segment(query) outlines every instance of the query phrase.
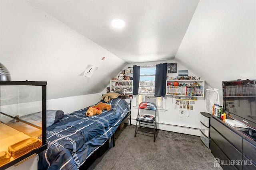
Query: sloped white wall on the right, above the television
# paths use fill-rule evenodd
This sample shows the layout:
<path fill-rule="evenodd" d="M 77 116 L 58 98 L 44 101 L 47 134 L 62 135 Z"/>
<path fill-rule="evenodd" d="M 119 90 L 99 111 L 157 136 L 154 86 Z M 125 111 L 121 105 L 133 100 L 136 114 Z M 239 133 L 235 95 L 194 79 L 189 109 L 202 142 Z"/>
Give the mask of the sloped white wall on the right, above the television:
<path fill-rule="evenodd" d="M 200 0 L 175 60 L 212 88 L 256 78 L 256 1 Z"/>

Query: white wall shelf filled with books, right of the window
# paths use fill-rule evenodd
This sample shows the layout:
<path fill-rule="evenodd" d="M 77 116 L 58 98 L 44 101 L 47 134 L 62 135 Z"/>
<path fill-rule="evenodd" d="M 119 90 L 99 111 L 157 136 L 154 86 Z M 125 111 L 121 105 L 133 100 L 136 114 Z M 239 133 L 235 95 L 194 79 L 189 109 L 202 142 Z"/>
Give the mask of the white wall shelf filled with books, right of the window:
<path fill-rule="evenodd" d="M 178 82 L 179 85 L 174 86 L 174 82 Z M 204 80 L 166 80 L 166 95 L 203 98 Z"/>

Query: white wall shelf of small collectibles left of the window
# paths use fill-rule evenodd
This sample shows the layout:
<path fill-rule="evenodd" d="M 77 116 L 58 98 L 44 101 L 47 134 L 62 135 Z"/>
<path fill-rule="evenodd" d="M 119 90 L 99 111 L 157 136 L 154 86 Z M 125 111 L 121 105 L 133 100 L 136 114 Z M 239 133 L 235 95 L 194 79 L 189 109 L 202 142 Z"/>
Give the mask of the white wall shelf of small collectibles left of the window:
<path fill-rule="evenodd" d="M 110 80 L 110 92 L 132 93 L 132 80 Z"/>

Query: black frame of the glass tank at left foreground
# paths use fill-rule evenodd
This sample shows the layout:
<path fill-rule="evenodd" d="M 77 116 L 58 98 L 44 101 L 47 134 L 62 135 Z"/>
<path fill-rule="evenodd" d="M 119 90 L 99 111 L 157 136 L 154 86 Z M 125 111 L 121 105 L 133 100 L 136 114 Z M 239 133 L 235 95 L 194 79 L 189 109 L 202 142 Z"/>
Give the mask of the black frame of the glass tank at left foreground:
<path fill-rule="evenodd" d="M 47 149 L 46 143 L 46 85 L 47 82 L 34 82 L 34 81 L 0 81 L 0 86 L 42 86 L 42 146 L 31 150 L 30 152 L 8 162 L 0 167 L 0 170 L 9 168 L 10 166 L 17 164 L 18 162 L 28 158 L 33 154 L 38 154 Z"/>

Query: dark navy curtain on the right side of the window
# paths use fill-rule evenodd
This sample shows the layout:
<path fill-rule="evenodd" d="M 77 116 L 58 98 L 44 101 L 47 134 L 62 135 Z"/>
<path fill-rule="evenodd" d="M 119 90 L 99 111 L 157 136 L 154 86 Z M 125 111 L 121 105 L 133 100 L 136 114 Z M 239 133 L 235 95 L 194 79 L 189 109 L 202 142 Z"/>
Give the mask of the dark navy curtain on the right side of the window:
<path fill-rule="evenodd" d="M 156 65 L 155 96 L 165 96 L 167 63 Z"/>

